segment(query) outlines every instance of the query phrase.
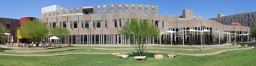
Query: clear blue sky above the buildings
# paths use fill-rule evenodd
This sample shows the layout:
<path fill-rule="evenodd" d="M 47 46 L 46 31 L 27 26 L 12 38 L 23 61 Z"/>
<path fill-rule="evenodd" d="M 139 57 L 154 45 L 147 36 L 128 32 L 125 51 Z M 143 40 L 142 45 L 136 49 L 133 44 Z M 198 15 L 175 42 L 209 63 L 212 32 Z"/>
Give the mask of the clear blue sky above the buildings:
<path fill-rule="evenodd" d="M 256 0 L 1 0 L 0 17 L 41 18 L 41 8 L 57 4 L 63 8 L 102 4 L 151 4 L 159 6 L 159 14 L 182 15 L 183 9 L 194 10 L 204 19 L 217 14 L 233 15 L 256 11 Z"/>

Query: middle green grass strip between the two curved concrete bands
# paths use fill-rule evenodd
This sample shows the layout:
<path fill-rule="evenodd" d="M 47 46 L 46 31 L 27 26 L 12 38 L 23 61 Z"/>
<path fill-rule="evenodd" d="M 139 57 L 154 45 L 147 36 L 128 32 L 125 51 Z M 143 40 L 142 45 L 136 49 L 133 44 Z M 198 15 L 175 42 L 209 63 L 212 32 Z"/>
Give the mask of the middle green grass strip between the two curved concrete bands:
<path fill-rule="evenodd" d="M 236 47 L 236 48 L 245 48 L 245 47 Z M 179 50 L 168 50 L 168 49 L 145 49 L 145 51 L 164 51 L 171 53 L 184 53 L 184 54 L 206 54 L 214 53 L 226 49 L 236 49 L 236 48 L 222 48 L 222 49 L 208 49 L 206 51 L 179 51 Z M 136 52 L 136 50 L 100 50 L 100 49 L 78 49 L 72 51 L 61 51 L 54 53 L 9 53 L 9 52 L 0 52 L 1 54 L 10 54 L 10 55 L 57 55 L 57 54 L 67 54 L 67 53 L 126 53 L 126 52 Z"/>

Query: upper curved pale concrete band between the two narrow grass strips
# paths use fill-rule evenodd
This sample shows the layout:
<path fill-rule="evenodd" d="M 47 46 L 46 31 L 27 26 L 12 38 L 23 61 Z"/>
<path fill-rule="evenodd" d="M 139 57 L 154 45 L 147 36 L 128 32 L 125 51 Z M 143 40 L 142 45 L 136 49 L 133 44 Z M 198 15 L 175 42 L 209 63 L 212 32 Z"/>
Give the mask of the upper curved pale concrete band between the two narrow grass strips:
<path fill-rule="evenodd" d="M 205 48 L 205 50 L 207 50 L 207 49 L 220 49 L 220 48 L 234 48 L 234 47 L 241 47 L 241 45 L 231 46 L 231 47 L 211 47 L 211 48 Z M 4 50 L 4 52 L 10 52 L 10 53 L 53 53 L 53 52 L 71 51 L 71 50 L 78 50 L 78 49 L 88 49 L 88 48 L 74 48 L 74 49 L 64 49 L 64 50 L 56 50 L 56 51 L 10 51 L 10 50 Z M 90 49 L 135 50 L 134 48 L 127 48 L 127 49 L 90 48 Z M 168 49 L 168 50 L 179 50 L 179 51 L 200 51 L 200 50 L 202 50 L 202 49 L 174 49 L 174 48 L 162 48 L 162 47 L 146 47 L 146 49 Z"/>

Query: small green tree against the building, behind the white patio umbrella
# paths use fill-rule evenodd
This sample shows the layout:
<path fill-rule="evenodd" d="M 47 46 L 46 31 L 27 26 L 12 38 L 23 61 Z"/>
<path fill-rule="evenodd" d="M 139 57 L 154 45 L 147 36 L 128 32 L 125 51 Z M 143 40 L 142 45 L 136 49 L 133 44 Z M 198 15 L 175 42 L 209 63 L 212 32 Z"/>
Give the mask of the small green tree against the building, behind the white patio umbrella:
<path fill-rule="evenodd" d="M 50 34 L 56 37 L 67 36 L 70 34 L 70 31 L 67 28 L 62 28 L 60 26 L 55 26 L 52 30 L 50 30 Z"/>

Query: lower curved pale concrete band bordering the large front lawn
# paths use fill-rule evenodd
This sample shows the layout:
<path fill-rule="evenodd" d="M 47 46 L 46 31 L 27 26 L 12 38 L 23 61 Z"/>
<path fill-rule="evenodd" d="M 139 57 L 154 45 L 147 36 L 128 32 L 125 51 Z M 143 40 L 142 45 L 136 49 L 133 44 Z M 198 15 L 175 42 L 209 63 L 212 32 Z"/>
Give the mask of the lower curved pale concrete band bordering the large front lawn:
<path fill-rule="evenodd" d="M 171 52 L 163 52 L 163 51 L 146 51 L 146 53 L 168 53 L 168 54 L 175 54 L 175 55 L 202 57 L 202 56 L 206 56 L 206 55 L 217 55 L 217 54 L 227 52 L 227 51 L 249 50 L 249 49 L 253 49 L 253 48 L 254 47 L 238 48 L 238 49 L 226 49 L 226 50 L 218 51 L 218 52 L 215 52 L 215 53 L 207 53 L 207 54 L 182 54 L 182 53 L 171 53 Z M 121 53 L 121 54 L 132 54 L 132 53 L 136 53 L 136 52 Z M 112 53 L 68 53 L 68 54 L 59 54 L 59 55 L 8 55 L 8 54 L 0 54 L 0 55 L 22 56 L 22 57 L 51 57 L 51 56 L 63 56 L 63 55 L 74 55 L 74 54 L 112 54 Z"/>

